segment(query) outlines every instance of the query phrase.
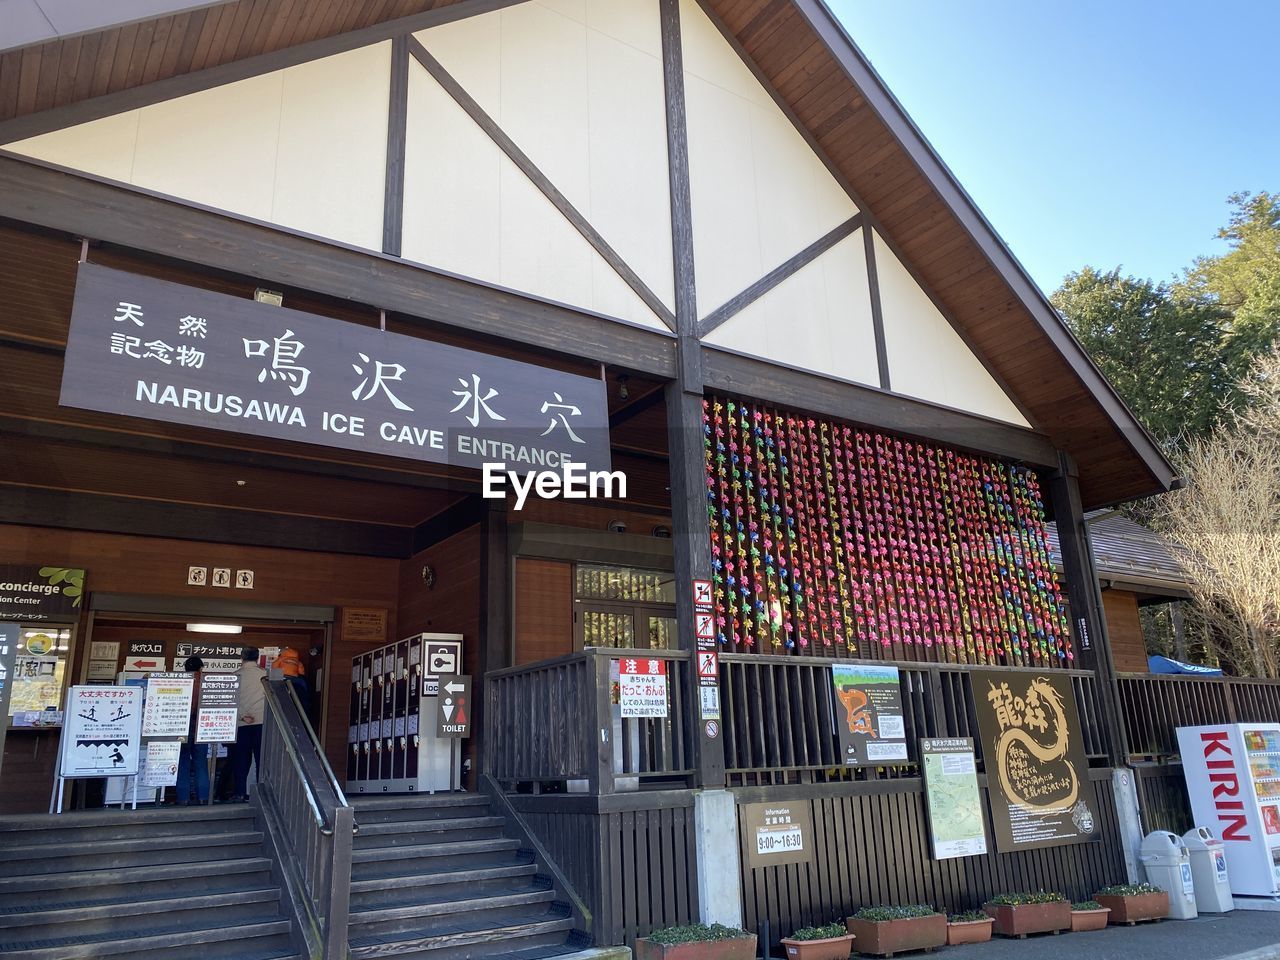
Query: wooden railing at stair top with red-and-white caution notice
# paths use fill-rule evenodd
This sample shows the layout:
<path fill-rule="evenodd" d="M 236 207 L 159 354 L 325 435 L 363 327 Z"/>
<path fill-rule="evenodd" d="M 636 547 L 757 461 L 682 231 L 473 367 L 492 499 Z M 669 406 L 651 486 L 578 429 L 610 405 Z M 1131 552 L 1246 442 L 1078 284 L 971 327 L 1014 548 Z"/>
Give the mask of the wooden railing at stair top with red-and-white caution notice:
<path fill-rule="evenodd" d="M 628 658 L 667 663 L 667 717 L 620 716 L 611 662 Z M 488 673 L 486 772 L 508 790 L 612 794 L 640 785 L 690 786 L 689 669 L 681 650 L 589 648 Z"/>

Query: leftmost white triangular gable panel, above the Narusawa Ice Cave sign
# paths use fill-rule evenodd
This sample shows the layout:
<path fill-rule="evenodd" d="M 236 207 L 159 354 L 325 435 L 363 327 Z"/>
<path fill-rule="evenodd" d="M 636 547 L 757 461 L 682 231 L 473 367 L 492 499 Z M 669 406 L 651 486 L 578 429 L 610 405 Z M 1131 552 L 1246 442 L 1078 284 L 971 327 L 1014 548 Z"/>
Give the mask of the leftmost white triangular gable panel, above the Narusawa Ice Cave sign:
<path fill-rule="evenodd" d="M 380 250 L 389 47 L 352 50 L 8 148 Z"/>

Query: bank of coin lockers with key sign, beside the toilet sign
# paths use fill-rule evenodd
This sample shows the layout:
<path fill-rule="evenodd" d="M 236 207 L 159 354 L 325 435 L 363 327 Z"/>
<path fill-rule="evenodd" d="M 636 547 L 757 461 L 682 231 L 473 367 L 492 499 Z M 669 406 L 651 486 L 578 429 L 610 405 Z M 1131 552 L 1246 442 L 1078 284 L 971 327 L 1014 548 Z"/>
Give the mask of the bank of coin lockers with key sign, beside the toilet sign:
<path fill-rule="evenodd" d="M 435 736 L 440 675 L 462 672 L 461 634 L 417 634 L 352 660 L 362 677 L 347 791 L 416 794 L 460 790 L 462 741 Z M 355 684 L 355 681 L 353 681 Z"/>

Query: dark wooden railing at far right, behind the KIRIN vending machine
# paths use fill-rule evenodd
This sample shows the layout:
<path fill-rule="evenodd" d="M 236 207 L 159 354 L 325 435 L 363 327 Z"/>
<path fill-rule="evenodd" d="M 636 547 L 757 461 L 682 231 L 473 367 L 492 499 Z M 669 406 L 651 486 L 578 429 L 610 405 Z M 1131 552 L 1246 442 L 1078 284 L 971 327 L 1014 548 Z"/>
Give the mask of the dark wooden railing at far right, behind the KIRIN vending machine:
<path fill-rule="evenodd" d="M 1178 728 L 1280 722 L 1280 681 L 1121 673 L 1120 714 L 1133 760 L 1179 756 Z"/>

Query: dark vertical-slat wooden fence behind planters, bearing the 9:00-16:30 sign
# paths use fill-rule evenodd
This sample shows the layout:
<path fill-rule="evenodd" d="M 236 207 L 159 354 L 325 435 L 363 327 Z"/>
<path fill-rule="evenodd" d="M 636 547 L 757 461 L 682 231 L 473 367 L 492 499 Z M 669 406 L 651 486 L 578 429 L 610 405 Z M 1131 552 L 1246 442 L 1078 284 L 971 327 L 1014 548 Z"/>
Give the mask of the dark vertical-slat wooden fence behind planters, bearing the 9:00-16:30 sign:
<path fill-rule="evenodd" d="M 1056 890 L 1084 900 L 1100 887 L 1125 882 L 1111 771 L 1091 771 L 1100 840 L 1014 854 L 932 859 L 928 817 L 919 780 L 800 785 L 735 790 L 739 803 L 803 800 L 813 812 L 815 850 L 810 861 L 753 870 L 746 827 L 739 814 L 742 902 L 748 929 L 765 918 L 778 937 L 799 927 L 829 923 L 861 906 L 932 904 L 941 910 L 978 908 L 993 893 Z M 986 778 L 982 778 L 986 791 Z M 1088 794 L 1085 794 L 1088 796 Z M 984 804 L 989 810 L 989 804 Z M 989 813 L 988 837 L 993 837 Z"/>

